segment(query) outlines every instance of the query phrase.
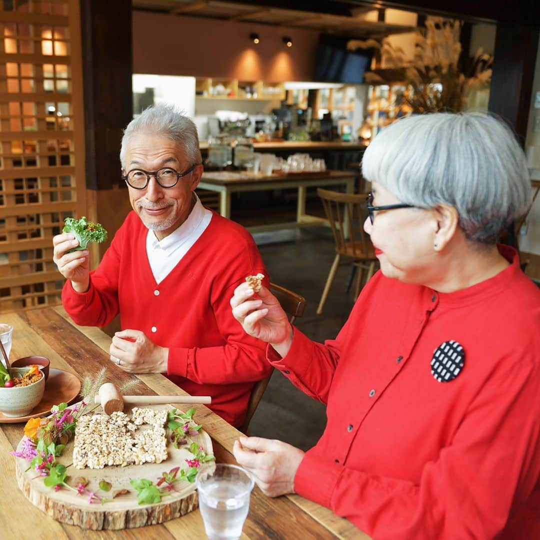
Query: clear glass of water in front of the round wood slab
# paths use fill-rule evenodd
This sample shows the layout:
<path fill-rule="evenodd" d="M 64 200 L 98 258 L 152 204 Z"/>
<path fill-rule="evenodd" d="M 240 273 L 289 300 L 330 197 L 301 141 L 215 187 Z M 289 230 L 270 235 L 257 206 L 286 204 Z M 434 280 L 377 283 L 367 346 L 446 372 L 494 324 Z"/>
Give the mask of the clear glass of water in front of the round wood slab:
<path fill-rule="evenodd" d="M 218 463 L 210 474 L 199 472 L 199 509 L 210 540 L 240 538 L 254 484 L 249 472 L 237 465 Z"/>

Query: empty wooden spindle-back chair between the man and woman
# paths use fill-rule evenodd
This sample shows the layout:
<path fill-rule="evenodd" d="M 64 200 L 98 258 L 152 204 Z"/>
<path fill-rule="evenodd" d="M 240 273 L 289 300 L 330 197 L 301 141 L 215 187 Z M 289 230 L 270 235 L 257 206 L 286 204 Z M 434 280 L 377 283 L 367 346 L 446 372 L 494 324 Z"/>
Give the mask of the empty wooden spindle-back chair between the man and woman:
<path fill-rule="evenodd" d="M 375 257 L 373 244 L 363 229 L 363 223 L 367 215 L 367 195 L 340 193 L 321 188 L 317 190 L 317 194 L 322 201 L 326 217 L 330 222 L 336 250 L 336 256 L 332 266 L 330 266 L 321 301 L 317 308 L 317 314 L 320 315 L 338 266 L 340 264 L 353 264 L 356 266 L 354 289 L 356 298 L 360 293 L 361 286 L 373 276 L 377 258 Z"/>

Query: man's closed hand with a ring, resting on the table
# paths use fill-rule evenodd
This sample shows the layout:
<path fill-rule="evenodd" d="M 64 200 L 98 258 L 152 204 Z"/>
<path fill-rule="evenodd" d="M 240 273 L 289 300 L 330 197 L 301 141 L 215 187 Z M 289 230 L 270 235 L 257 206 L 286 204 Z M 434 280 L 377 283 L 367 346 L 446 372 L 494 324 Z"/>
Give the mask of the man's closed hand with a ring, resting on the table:
<path fill-rule="evenodd" d="M 167 371 L 168 349 L 154 345 L 140 330 L 114 332 L 109 352 L 111 360 L 129 373 Z"/>

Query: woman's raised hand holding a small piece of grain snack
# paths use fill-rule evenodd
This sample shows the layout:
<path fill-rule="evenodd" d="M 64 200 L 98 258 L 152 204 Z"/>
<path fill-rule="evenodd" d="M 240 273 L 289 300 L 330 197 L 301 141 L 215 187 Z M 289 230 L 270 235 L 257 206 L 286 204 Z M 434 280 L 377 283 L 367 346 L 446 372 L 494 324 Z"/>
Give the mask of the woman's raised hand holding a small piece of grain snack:
<path fill-rule="evenodd" d="M 231 298 L 233 316 L 250 336 L 270 343 L 283 357 L 291 348 L 293 327 L 278 299 L 264 286 L 258 298 L 247 283 L 234 290 Z"/>

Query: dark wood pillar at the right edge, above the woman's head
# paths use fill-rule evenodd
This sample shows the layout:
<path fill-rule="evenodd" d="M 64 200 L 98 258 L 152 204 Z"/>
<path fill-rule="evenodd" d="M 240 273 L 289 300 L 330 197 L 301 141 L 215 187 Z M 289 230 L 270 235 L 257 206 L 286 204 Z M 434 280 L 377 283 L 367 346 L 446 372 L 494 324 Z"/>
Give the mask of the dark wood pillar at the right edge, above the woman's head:
<path fill-rule="evenodd" d="M 489 111 L 502 116 L 525 144 L 531 103 L 538 26 L 497 25 Z"/>

